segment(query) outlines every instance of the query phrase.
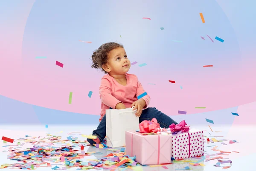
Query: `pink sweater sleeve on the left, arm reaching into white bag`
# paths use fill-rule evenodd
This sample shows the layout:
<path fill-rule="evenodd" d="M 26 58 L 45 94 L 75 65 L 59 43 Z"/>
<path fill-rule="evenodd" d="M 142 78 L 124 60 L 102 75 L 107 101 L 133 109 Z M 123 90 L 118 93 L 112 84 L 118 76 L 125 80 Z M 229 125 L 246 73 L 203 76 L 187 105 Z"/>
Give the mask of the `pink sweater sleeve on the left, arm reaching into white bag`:
<path fill-rule="evenodd" d="M 99 97 L 103 104 L 115 109 L 116 104 L 122 103 L 122 101 L 117 100 L 111 91 L 111 84 L 106 78 L 102 78 L 100 87 L 99 87 Z"/>

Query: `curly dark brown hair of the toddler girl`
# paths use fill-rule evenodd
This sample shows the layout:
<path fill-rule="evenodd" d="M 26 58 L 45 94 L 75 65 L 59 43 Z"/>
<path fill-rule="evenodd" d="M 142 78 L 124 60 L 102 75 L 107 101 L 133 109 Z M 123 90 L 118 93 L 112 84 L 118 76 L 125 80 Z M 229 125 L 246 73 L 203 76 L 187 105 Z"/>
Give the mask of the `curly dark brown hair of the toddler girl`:
<path fill-rule="evenodd" d="M 92 68 L 100 68 L 103 72 L 107 73 L 105 70 L 103 70 L 102 65 L 107 64 L 108 53 L 116 48 L 123 48 L 123 45 L 120 43 L 109 42 L 101 45 L 98 49 L 96 49 L 92 55 Z"/>

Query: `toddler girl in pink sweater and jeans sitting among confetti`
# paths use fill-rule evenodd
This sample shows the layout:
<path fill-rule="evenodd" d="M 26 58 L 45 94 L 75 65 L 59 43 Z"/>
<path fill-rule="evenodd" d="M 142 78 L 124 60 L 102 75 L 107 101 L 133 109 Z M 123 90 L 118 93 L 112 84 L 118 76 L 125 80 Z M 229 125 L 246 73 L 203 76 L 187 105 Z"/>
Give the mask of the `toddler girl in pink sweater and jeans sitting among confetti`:
<path fill-rule="evenodd" d="M 96 139 L 87 139 L 93 144 L 101 143 L 106 136 L 106 109 L 126 109 L 133 107 L 137 109 L 136 116 L 140 123 L 144 120 L 156 118 L 162 128 L 169 128 L 172 123 L 177 124 L 172 118 L 157 110 L 148 107 L 149 95 L 138 100 L 138 96 L 145 93 L 140 81 L 134 74 L 128 74 L 131 67 L 125 49 L 122 45 L 114 42 L 101 45 L 92 55 L 92 67 L 100 68 L 105 72 L 99 87 L 101 103 L 100 123 L 92 135 Z M 143 110 L 144 109 L 144 110 Z"/>

